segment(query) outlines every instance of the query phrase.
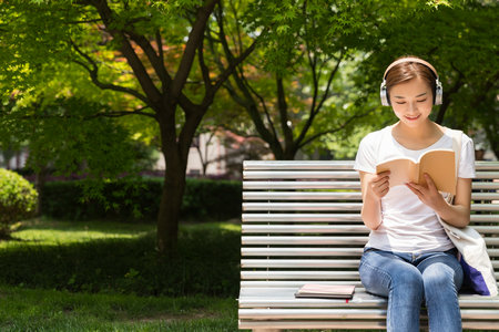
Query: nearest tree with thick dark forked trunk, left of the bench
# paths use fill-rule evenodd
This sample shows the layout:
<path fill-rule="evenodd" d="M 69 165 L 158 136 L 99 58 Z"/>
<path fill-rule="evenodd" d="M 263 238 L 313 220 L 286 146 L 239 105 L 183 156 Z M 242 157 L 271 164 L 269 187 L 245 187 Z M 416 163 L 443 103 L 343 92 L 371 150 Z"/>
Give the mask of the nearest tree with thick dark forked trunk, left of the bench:
<path fill-rule="evenodd" d="M 81 65 L 100 89 L 139 102 L 133 110 L 108 110 L 99 116 L 141 115 L 157 123 L 166 164 L 157 218 L 157 249 L 162 253 L 174 253 L 176 248 L 187 154 L 195 131 L 216 92 L 254 50 L 257 39 L 223 68 L 208 68 L 205 29 L 220 3 L 221 0 L 11 1 L 0 9 L 0 43 L 8 46 L 0 58 L 0 75 L 10 84 L 29 89 L 48 75 L 48 70 L 57 68 L 58 61 L 71 61 Z M 123 84 L 116 74 L 103 74 L 112 72 L 105 60 L 116 60 L 116 53 L 125 60 L 128 75 L 135 84 Z M 169 56 L 177 59 L 169 62 Z M 191 73 L 195 62 L 198 73 Z M 191 94 L 189 81 L 196 74 L 203 91 Z"/>

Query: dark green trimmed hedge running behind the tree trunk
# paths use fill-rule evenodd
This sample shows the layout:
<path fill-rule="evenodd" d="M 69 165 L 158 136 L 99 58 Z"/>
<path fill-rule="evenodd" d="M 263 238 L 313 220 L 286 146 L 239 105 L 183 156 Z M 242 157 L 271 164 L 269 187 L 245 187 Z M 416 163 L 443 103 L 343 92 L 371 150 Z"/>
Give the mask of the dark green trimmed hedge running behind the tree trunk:
<path fill-rule="evenodd" d="M 84 183 L 50 181 L 43 187 L 44 216 L 70 219 L 155 220 L 163 179 L 115 180 L 104 183 L 98 197 L 84 198 Z M 235 180 L 187 178 L 181 219 L 226 220 L 241 215 L 242 184 Z"/>

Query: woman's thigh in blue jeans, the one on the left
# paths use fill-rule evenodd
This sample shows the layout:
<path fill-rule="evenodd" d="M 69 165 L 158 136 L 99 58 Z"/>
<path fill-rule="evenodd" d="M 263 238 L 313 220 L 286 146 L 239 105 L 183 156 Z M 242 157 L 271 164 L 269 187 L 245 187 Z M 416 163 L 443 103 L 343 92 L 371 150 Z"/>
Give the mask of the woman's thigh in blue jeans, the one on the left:
<path fill-rule="evenodd" d="M 381 250 L 364 252 L 359 264 L 360 280 L 370 293 L 388 297 L 390 289 L 404 284 L 422 291 L 421 272 L 400 257 Z"/>

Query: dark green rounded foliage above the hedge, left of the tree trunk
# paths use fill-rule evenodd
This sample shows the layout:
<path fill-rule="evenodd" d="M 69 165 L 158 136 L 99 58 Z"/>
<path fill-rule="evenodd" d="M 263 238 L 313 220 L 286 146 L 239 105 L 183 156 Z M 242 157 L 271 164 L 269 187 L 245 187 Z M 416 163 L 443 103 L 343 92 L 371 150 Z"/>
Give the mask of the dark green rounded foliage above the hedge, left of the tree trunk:
<path fill-rule="evenodd" d="M 94 116 L 106 108 L 105 104 L 77 97 L 49 104 L 3 105 L 0 142 L 27 145 L 27 166 L 35 172 L 49 165 L 59 174 L 88 174 L 94 178 L 134 172 L 140 166 L 139 157 L 146 156 L 123 126 Z"/>

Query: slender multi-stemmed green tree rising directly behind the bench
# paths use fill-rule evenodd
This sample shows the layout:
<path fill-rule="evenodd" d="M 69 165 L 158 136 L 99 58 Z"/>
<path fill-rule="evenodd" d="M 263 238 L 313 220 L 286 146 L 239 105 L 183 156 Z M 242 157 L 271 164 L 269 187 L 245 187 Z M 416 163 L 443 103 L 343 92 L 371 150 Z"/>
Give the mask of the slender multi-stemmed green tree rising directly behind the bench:
<path fill-rule="evenodd" d="M 207 35 L 218 63 L 222 58 L 234 58 L 232 52 L 249 38 L 247 31 L 268 29 L 259 48 L 224 86 L 246 110 L 276 159 L 294 159 L 298 151 L 324 137 L 345 137 L 364 117 L 375 114 L 378 103 L 370 104 L 342 71 L 358 62 L 358 50 L 370 42 L 378 24 L 385 24 L 380 15 L 420 12 L 431 4 L 255 1 L 251 14 L 243 18 L 245 30 L 237 24 L 245 2 L 224 3 L 225 9 L 215 11 L 217 24 Z M 232 39 L 233 48 L 228 44 Z"/>

